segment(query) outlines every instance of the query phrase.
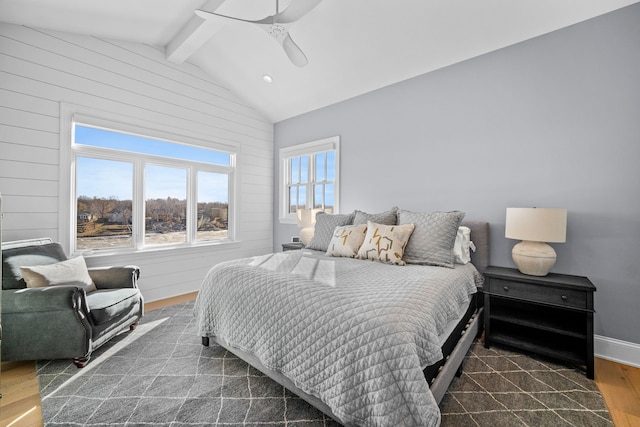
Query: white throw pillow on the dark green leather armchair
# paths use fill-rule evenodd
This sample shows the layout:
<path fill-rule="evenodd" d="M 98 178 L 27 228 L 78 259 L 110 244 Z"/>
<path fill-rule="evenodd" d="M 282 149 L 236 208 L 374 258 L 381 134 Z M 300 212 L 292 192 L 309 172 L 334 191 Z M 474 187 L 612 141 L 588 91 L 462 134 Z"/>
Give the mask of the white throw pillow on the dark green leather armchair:
<path fill-rule="evenodd" d="M 82 286 L 87 292 L 96 290 L 96 285 L 91 280 L 91 276 L 89 276 L 87 264 L 82 256 L 55 264 L 20 267 L 20 272 L 28 288 L 78 285 Z"/>

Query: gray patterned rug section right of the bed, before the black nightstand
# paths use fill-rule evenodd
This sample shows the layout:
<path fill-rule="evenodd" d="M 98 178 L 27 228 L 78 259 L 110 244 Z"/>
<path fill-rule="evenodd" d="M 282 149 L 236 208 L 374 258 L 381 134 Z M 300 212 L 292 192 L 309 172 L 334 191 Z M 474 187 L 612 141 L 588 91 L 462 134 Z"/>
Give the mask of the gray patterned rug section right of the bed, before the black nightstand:
<path fill-rule="evenodd" d="M 443 426 L 613 426 L 584 372 L 479 341 L 440 410 Z"/>

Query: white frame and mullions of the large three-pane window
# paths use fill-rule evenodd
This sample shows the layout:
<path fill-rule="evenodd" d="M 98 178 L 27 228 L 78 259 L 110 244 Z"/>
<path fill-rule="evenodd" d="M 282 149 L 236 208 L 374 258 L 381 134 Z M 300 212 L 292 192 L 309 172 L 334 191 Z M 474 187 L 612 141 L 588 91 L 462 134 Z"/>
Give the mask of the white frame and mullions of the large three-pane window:
<path fill-rule="evenodd" d="M 236 243 L 237 221 L 237 174 L 239 149 L 237 145 L 210 142 L 177 133 L 177 130 L 166 125 L 153 124 L 140 120 L 132 120 L 130 117 L 123 117 L 97 111 L 91 108 L 72 106 L 61 103 L 61 131 L 60 131 L 60 209 L 59 209 L 59 230 L 60 243 L 72 256 L 77 254 L 87 255 L 119 255 L 126 253 L 145 253 L 157 250 L 210 247 Z M 229 165 L 219 165 L 203 163 L 178 158 L 169 158 L 152 154 L 142 154 L 112 150 L 102 147 L 92 147 L 86 145 L 74 145 L 74 124 L 96 127 L 118 133 L 133 134 L 145 138 L 159 139 L 176 144 L 191 145 L 197 148 L 218 150 L 230 155 Z M 105 160 L 124 161 L 133 164 L 133 193 L 132 193 L 132 223 L 134 225 L 133 245 L 126 248 L 90 249 L 78 250 L 76 248 L 76 224 L 77 218 L 77 197 L 76 194 L 76 159 L 77 157 L 90 157 Z M 187 173 L 187 225 L 186 241 L 175 244 L 154 244 L 146 245 L 144 230 L 144 205 L 145 205 L 145 168 L 144 165 L 158 165 L 168 167 L 185 168 Z M 228 176 L 228 235 L 226 239 L 220 240 L 196 240 L 197 219 L 192 218 L 197 215 L 198 172 L 223 173 Z"/>

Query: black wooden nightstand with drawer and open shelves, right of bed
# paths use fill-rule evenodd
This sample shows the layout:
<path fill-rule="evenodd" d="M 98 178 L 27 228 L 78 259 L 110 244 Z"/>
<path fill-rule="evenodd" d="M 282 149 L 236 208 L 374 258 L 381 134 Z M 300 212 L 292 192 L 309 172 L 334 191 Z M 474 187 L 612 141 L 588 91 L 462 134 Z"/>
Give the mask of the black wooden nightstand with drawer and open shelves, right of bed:
<path fill-rule="evenodd" d="M 484 346 L 504 344 L 586 370 L 593 379 L 593 293 L 586 277 L 488 267 Z"/>

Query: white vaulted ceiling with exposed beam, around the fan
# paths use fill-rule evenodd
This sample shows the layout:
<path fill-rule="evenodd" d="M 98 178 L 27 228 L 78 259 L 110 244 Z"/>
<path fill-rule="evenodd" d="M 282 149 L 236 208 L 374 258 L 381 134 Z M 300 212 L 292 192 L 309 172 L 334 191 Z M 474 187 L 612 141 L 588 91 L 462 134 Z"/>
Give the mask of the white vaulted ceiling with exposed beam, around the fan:
<path fill-rule="evenodd" d="M 321 0 L 290 26 L 303 67 L 259 26 L 194 11 L 260 20 L 314 0 L 0 0 L 0 21 L 160 47 L 277 122 L 638 1 Z"/>

